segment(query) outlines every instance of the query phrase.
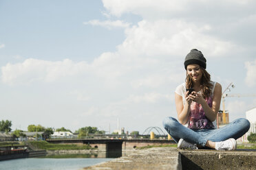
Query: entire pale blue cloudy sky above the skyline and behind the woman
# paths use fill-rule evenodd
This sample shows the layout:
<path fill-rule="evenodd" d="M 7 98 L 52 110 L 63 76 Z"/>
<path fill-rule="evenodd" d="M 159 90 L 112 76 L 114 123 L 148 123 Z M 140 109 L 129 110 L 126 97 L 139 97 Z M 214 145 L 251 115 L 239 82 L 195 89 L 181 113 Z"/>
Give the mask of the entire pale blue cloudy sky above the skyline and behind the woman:
<path fill-rule="evenodd" d="M 193 48 L 230 94 L 256 93 L 253 0 L 0 1 L 0 115 L 12 129 L 162 128 Z M 230 120 L 255 97 L 228 97 Z M 221 108 L 222 109 L 222 108 Z M 163 130 L 163 128 L 162 128 Z"/>

